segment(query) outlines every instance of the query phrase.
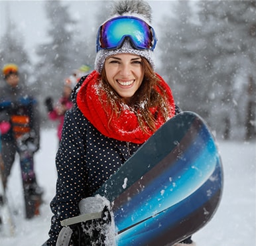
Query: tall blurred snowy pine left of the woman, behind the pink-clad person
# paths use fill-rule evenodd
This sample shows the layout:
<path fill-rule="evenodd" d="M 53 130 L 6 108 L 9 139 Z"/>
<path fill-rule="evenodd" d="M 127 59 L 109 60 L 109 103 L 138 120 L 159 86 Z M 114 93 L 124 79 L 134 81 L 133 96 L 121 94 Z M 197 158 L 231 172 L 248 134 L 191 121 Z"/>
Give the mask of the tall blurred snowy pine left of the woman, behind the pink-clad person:
<path fill-rule="evenodd" d="M 76 22 L 62 1 L 46 1 L 48 40 L 37 48 L 36 77 L 40 88 L 41 111 L 46 115 L 45 97 L 58 99 L 62 94 L 65 78 L 81 66 L 76 46 Z M 55 101 L 56 102 L 56 101 Z"/>

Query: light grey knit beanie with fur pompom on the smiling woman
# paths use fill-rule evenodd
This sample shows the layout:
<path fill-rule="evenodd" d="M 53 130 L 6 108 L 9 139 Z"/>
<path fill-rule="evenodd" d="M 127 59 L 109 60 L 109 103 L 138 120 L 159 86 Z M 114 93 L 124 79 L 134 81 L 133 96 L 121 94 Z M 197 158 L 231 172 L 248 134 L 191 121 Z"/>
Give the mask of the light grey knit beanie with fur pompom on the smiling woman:
<path fill-rule="evenodd" d="M 125 0 L 115 2 L 113 5 L 112 16 L 109 19 L 114 17 L 118 17 L 121 15 L 137 17 L 145 21 L 148 25 L 151 25 L 151 7 L 145 1 L 141 0 Z M 107 21 L 109 21 L 109 19 Z M 105 22 L 107 22 L 105 21 Z M 153 51 L 149 49 L 137 50 L 133 48 L 129 40 L 126 38 L 125 42 L 123 42 L 123 46 L 121 48 L 117 48 L 116 50 L 99 50 L 96 54 L 95 60 L 95 70 L 101 73 L 105 60 L 109 56 L 113 56 L 115 54 L 136 54 L 138 56 L 145 57 L 152 68 L 155 68 Z"/>

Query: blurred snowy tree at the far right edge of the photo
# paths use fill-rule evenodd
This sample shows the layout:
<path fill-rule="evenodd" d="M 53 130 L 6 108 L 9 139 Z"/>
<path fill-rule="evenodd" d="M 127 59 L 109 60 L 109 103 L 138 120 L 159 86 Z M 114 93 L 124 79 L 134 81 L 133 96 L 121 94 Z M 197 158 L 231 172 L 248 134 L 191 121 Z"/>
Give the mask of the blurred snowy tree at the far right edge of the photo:
<path fill-rule="evenodd" d="M 210 61 L 208 74 L 204 76 L 213 83 L 214 107 L 211 115 L 216 119 L 216 129 L 222 132 L 225 139 L 237 135 L 237 132 L 241 133 L 241 129 L 247 131 L 248 125 L 255 121 L 255 106 L 250 109 L 250 113 L 247 110 L 248 85 L 251 83 L 255 88 L 256 78 L 255 3 L 199 2 L 202 36 L 206 40 L 202 54 Z"/>

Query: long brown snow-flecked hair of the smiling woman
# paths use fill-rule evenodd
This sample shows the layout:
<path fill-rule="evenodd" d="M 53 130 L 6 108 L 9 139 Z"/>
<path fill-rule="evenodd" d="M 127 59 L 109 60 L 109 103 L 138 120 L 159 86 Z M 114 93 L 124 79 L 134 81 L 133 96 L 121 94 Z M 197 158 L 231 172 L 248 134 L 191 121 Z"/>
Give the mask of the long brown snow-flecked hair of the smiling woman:
<path fill-rule="evenodd" d="M 133 110 L 137 116 L 139 125 L 143 131 L 148 132 L 147 129 L 149 129 L 155 132 L 155 121 L 157 119 L 157 114 L 160 113 L 165 120 L 168 118 L 167 95 L 158 83 L 159 78 L 156 76 L 153 68 L 146 58 L 141 57 L 141 65 L 143 66 L 143 70 L 145 72 L 143 82 L 137 92 L 135 92 L 133 97 L 131 97 L 129 103 L 125 104 L 131 107 L 131 110 Z M 100 79 L 102 82 L 103 91 L 107 93 L 107 106 L 111 106 L 112 109 L 112 114 L 109 118 L 110 123 L 111 117 L 114 113 L 118 116 L 121 105 L 124 104 L 124 101 L 109 85 L 109 82 L 107 82 L 105 66 L 103 66 Z M 103 107 L 105 107 L 104 105 L 105 104 L 103 103 Z M 152 113 L 150 110 L 151 107 L 156 107 L 157 111 Z"/>

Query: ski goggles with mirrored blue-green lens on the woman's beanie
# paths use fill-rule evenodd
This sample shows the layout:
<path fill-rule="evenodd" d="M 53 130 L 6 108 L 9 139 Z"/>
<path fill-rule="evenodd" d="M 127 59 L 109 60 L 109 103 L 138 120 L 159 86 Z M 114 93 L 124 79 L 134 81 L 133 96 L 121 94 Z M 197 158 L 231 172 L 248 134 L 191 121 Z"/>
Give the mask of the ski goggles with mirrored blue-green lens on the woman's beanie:
<path fill-rule="evenodd" d="M 120 16 L 110 19 L 99 27 L 96 51 L 120 48 L 125 38 L 129 38 L 137 50 L 154 50 L 157 44 L 153 27 L 137 17 Z"/>

